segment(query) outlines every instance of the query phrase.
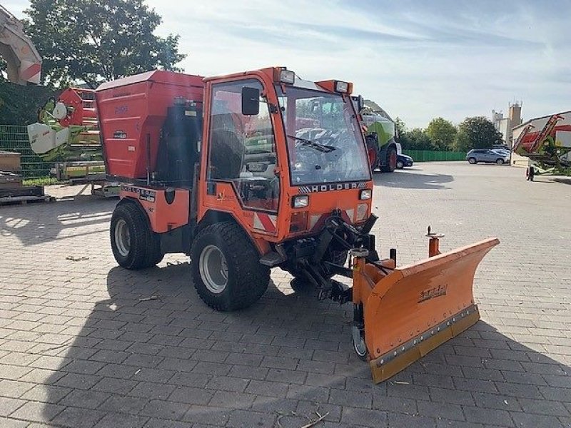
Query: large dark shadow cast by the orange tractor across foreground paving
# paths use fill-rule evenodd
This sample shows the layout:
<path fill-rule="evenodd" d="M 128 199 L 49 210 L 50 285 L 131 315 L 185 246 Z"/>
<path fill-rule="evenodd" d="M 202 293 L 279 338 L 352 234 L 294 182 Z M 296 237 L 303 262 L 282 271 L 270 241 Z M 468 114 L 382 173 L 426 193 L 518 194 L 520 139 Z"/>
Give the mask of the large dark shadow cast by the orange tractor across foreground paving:
<path fill-rule="evenodd" d="M 188 264 L 113 267 L 108 298 L 94 304 L 74 342 L 46 350 L 64 359 L 44 382 L 44 419 L 97 428 L 301 427 L 317 410 L 348 426 L 345 415 L 368 403 L 385 421 L 379 427 L 398 414 L 420 415 L 423 426 L 490 417 L 478 407 L 497 409 L 499 419 L 482 423 L 519 418 L 517 426 L 537 427 L 545 420 L 528 409 L 565 412 L 562 402 L 571 402 L 569 367 L 485 322 L 375 385 L 353 354 L 350 305 L 294 293 L 284 275 L 248 310 L 215 312 L 189 278 Z"/>

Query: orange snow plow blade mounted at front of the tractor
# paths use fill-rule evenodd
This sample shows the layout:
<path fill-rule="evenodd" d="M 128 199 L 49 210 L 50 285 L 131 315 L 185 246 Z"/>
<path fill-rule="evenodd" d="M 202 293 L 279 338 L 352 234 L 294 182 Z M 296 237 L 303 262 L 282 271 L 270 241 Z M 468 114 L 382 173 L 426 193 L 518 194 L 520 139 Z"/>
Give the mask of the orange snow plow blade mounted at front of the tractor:
<path fill-rule="evenodd" d="M 365 344 L 375 383 L 392 377 L 480 319 L 472 290 L 474 274 L 498 243 L 495 238 L 483 240 L 384 272 L 363 259 L 356 260 L 356 298 L 363 303 Z"/>

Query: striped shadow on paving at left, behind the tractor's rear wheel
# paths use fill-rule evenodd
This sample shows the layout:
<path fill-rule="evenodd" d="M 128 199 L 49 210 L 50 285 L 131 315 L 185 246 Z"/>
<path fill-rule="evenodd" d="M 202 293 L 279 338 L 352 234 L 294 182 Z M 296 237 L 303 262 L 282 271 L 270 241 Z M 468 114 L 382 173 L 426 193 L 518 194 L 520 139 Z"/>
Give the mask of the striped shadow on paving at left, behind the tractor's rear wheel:
<path fill-rule="evenodd" d="M 0 208 L 0 236 L 16 236 L 24 246 L 100 233 L 94 228 L 74 233 L 76 228 L 108 223 L 117 200 L 103 200 L 91 195 L 53 203 L 11 205 Z M 69 233 L 62 233 L 68 230 Z"/>

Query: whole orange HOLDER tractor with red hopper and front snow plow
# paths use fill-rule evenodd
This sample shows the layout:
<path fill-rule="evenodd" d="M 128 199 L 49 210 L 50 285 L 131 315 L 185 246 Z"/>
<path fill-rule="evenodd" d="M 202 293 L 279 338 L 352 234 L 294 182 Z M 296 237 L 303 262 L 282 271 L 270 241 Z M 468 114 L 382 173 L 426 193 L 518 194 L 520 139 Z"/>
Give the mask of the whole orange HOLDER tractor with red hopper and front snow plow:
<path fill-rule="evenodd" d="M 477 321 L 474 272 L 497 240 L 440 255 L 430 235 L 427 260 L 380 260 L 352 86 L 283 67 L 151 71 L 103 83 L 96 103 L 107 173 L 123 183 L 110 232 L 119 265 L 190 255 L 215 310 L 252 305 L 281 267 L 320 299 L 353 302 L 355 351 L 380 382 Z"/>

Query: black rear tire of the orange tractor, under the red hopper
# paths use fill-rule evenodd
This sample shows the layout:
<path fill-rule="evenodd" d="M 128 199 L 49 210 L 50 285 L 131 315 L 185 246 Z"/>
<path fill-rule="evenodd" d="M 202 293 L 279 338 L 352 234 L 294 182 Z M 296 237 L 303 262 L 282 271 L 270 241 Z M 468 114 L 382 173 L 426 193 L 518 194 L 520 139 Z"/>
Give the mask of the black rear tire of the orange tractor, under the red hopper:
<path fill-rule="evenodd" d="M 109 235 L 113 257 L 126 269 L 150 267 L 163 258 L 162 254 L 160 258 L 158 256 L 161 251 L 158 235 L 149 229 L 145 213 L 134 203 L 116 206 L 111 216 Z"/>

